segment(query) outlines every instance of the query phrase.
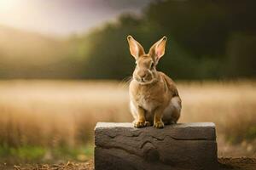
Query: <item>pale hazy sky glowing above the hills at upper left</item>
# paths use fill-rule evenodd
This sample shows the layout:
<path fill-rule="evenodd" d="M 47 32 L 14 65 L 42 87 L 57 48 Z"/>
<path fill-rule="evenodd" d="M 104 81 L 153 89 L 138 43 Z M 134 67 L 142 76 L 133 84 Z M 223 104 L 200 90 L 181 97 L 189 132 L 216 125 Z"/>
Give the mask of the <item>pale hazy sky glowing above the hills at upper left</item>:
<path fill-rule="evenodd" d="M 0 25 L 46 34 L 87 31 L 152 0 L 0 0 Z"/>

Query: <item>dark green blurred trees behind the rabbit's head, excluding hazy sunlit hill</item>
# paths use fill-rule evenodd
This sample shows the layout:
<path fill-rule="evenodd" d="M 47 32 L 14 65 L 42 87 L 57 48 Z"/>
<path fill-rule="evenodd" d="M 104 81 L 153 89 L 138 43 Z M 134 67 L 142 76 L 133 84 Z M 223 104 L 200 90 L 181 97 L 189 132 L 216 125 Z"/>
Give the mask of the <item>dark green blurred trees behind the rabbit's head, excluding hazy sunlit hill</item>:
<path fill-rule="evenodd" d="M 255 77 L 255 28 L 252 6 L 229 1 L 157 1 L 142 17 L 123 14 L 90 34 L 93 44 L 84 77 L 118 78 L 131 75 L 134 59 L 127 35 L 133 35 L 147 51 L 167 36 L 166 55 L 158 68 L 175 79 Z M 240 7 L 247 8 L 243 10 Z M 236 32 L 240 32 L 238 36 Z M 250 36 L 247 36 L 247 33 Z"/>

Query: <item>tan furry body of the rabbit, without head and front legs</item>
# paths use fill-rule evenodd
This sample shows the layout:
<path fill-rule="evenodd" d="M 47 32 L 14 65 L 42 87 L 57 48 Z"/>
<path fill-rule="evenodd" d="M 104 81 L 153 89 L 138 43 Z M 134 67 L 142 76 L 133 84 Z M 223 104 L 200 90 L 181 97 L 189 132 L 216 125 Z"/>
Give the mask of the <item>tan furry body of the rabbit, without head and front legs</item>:
<path fill-rule="evenodd" d="M 156 82 L 141 85 L 136 80 L 130 83 L 130 109 L 135 120 L 138 119 L 136 105 L 145 111 L 145 121 L 153 125 L 154 110 L 162 108 L 162 121 L 165 124 L 176 123 L 180 116 L 181 99 L 177 94 L 174 82 L 164 73 L 159 73 Z"/>

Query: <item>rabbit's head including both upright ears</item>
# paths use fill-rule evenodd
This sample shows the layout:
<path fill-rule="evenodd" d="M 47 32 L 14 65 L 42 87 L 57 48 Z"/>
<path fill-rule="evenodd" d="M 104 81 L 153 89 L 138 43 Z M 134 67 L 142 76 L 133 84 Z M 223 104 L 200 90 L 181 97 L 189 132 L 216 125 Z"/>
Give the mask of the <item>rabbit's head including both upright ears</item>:
<path fill-rule="evenodd" d="M 133 71 L 133 78 L 140 84 L 149 84 L 157 80 L 158 73 L 155 66 L 159 59 L 165 54 L 166 37 L 162 37 L 145 54 L 143 46 L 133 37 L 127 37 L 131 55 L 136 59 L 136 67 Z"/>

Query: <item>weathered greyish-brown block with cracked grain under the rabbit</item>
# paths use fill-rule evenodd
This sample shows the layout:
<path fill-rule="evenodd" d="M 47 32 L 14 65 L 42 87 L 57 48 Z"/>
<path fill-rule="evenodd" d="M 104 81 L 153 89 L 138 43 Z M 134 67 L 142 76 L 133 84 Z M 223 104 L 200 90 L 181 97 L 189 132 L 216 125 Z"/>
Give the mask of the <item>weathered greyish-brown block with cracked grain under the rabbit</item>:
<path fill-rule="evenodd" d="M 214 169 L 218 162 L 215 125 L 211 122 L 163 129 L 98 122 L 95 144 L 96 170 Z"/>

